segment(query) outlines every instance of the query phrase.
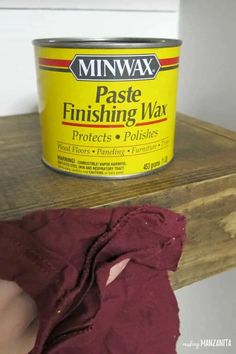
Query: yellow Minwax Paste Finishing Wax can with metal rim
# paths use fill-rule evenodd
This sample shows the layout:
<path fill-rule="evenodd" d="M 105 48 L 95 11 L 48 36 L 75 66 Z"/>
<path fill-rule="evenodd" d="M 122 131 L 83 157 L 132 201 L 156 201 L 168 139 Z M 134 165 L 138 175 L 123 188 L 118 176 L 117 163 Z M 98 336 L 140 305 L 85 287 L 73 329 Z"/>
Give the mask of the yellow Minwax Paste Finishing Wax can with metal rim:
<path fill-rule="evenodd" d="M 46 165 L 78 176 L 127 178 L 173 159 L 180 40 L 33 44 Z"/>

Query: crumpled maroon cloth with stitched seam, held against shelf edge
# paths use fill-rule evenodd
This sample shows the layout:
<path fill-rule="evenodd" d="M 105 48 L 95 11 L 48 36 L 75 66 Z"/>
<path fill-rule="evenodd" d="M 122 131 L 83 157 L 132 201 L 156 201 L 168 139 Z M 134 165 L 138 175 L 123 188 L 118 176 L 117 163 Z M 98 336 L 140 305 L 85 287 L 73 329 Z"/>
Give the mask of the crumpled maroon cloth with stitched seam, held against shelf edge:
<path fill-rule="evenodd" d="M 155 206 L 37 211 L 0 222 L 0 278 L 40 317 L 31 354 L 174 354 L 185 218 Z M 110 284 L 110 269 L 130 259 Z"/>

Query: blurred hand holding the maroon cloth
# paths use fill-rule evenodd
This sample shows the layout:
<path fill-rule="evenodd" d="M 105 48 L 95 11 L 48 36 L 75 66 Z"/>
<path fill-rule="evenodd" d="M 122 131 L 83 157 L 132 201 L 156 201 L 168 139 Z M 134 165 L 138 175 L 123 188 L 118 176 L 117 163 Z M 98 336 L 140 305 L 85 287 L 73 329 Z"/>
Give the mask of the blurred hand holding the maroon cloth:
<path fill-rule="evenodd" d="M 29 353 L 38 327 L 33 299 L 15 282 L 0 279 L 0 353 Z"/>

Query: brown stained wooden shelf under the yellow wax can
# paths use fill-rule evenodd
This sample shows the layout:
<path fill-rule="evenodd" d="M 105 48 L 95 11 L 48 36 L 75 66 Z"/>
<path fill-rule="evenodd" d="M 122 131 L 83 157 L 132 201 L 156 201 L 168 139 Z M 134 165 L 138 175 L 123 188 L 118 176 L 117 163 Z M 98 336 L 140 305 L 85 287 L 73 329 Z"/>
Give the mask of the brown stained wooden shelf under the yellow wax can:
<path fill-rule="evenodd" d="M 63 175 L 40 158 L 37 114 L 0 119 L 0 218 L 42 208 L 151 203 L 187 217 L 175 289 L 236 266 L 236 133 L 177 116 L 174 161 L 152 175 L 97 180 Z"/>

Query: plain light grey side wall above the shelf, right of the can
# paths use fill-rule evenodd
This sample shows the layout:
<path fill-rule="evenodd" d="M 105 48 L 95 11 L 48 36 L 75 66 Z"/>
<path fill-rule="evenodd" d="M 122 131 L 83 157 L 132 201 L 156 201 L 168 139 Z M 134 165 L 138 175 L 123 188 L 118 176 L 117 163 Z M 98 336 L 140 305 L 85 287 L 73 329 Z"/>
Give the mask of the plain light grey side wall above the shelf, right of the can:
<path fill-rule="evenodd" d="M 235 0 L 181 1 L 178 109 L 234 130 L 235 33 Z"/>

